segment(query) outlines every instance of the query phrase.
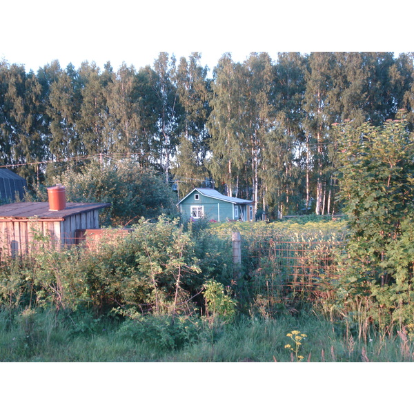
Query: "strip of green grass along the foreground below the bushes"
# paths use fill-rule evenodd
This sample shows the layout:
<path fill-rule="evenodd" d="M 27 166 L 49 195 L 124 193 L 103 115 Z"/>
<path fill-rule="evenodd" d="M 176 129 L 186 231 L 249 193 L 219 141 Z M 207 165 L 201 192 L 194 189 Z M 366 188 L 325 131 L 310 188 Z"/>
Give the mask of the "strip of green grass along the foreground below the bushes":
<path fill-rule="evenodd" d="M 281 315 L 267 320 L 242 317 L 230 324 L 216 323 L 213 328 L 198 318 L 197 330 L 181 342 L 177 337 L 186 331 L 188 321 L 177 325 L 170 324 L 166 317 L 149 318 L 138 322 L 152 330 L 151 335 L 144 335 L 146 331 L 134 331 L 130 322 L 100 321 L 93 329 L 80 332 L 72 323 L 49 312 L 28 313 L 13 320 L 2 312 L 0 361 L 290 362 L 295 357 L 285 345 L 292 344 L 286 336 L 291 331 L 306 334 L 299 347 L 299 354 L 304 356 L 302 363 L 413 361 L 410 332 L 406 340 L 397 334 L 372 333 L 364 342 L 351 335 L 346 326 L 316 315 Z M 175 339 L 163 342 L 166 337 Z"/>

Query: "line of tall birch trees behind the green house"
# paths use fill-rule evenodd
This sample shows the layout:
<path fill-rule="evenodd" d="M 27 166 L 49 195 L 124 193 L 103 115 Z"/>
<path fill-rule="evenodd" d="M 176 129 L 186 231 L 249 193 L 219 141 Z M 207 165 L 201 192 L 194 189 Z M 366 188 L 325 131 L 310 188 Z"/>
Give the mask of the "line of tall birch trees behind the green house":
<path fill-rule="evenodd" d="M 3 60 L 0 163 L 34 187 L 48 168 L 127 157 L 175 181 L 179 198 L 211 185 L 275 217 L 333 213 L 333 124 L 380 126 L 402 112 L 412 129 L 413 59 L 281 52 L 273 61 L 255 52 L 237 62 L 225 53 L 211 76 L 199 52 L 161 52 L 152 66 L 117 70 L 52 61 L 35 73 Z"/>

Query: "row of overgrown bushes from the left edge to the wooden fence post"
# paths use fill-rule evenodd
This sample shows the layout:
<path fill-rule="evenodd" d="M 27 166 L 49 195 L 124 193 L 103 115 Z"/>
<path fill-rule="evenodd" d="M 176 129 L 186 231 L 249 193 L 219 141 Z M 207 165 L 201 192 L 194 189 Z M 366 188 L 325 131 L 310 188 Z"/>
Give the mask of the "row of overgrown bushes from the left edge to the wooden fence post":
<path fill-rule="evenodd" d="M 140 219 L 128 235 L 108 230 L 90 248 L 59 250 L 39 235 L 35 255 L 0 262 L 0 305 L 90 309 L 96 316 L 118 307 L 190 315 L 204 306 L 207 279 L 230 284 L 231 251 L 217 236 L 185 232 L 178 223 Z"/>

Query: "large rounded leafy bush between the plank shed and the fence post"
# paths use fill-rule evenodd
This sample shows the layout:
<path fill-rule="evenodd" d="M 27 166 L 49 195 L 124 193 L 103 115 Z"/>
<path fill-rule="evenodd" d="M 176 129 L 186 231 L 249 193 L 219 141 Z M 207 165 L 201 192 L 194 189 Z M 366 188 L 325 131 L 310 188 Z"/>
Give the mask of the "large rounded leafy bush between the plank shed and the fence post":
<path fill-rule="evenodd" d="M 88 301 L 101 311 L 118 304 L 176 313 L 202 280 L 193 243 L 177 219 L 165 217 L 155 224 L 141 219 L 128 236 L 103 240 L 99 248 L 81 255 L 77 268 Z"/>

